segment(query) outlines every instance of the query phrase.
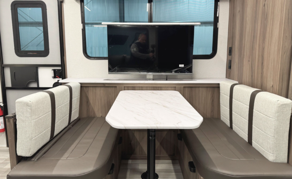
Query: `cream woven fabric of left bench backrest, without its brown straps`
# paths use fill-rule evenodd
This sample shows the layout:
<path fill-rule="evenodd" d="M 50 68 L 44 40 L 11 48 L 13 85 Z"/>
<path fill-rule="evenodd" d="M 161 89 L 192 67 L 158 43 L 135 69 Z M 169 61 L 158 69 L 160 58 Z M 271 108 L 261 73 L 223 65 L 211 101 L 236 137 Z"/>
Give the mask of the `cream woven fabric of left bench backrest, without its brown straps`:
<path fill-rule="evenodd" d="M 80 84 L 72 87 L 71 121 L 79 116 Z M 54 136 L 69 123 L 70 92 L 68 86 L 58 86 L 46 91 L 53 92 L 56 103 Z M 38 92 L 16 100 L 16 151 L 19 156 L 30 157 L 50 140 L 52 109 L 50 95 Z"/>

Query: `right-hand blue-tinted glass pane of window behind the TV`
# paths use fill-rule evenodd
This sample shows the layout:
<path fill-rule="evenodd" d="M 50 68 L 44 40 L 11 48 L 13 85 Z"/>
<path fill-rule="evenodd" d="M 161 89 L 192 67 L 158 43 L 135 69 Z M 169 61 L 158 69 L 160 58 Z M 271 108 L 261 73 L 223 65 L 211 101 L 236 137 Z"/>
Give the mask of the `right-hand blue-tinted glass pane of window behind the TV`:
<path fill-rule="evenodd" d="M 213 46 L 214 0 L 153 0 L 153 22 L 201 22 L 194 28 L 194 55 Z"/>

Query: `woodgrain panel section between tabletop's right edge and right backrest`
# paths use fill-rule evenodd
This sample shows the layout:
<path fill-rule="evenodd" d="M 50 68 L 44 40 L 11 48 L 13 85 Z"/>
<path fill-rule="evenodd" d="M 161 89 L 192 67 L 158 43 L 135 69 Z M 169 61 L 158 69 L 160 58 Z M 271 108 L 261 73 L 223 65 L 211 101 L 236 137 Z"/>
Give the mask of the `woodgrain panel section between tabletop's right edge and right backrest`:
<path fill-rule="evenodd" d="M 184 98 L 204 118 L 220 118 L 220 89 L 218 87 L 184 87 Z"/>

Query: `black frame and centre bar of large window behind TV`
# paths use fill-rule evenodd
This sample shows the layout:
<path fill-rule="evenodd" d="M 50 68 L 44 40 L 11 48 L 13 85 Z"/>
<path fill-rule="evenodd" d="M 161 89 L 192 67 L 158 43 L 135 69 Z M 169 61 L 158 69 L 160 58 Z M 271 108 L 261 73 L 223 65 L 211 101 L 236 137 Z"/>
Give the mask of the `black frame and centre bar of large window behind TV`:
<path fill-rule="evenodd" d="M 121 0 L 123 2 L 123 0 Z M 218 46 L 218 25 L 219 25 L 219 1 L 214 0 L 214 22 L 213 22 L 213 44 L 212 53 L 209 55 L 193 55 L 193 59 L 212 59 L 217 54 Z M 153 0 L 148 0 L 148 22 L 153 22 Z M 91 57 L 86 50 L 86 33 L 85 33 L 85 15 L 84 15 L 84 0 L 80 0 L 81 8 L 81 23 L 82 23 L 82 51 L 84 56 L 90 60 L 107 60 L 108 57 Z"/>

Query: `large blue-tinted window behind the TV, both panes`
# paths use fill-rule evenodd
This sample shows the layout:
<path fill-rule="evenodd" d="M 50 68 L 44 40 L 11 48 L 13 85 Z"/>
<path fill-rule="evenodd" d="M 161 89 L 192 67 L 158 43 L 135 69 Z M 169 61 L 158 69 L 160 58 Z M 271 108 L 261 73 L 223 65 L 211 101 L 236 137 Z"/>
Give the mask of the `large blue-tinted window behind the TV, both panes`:
<path fill-rule="evenodd" d="M 81 0 L 84 55 L 107 59 L 107 27 L 102 22 L 201 22 L 194 28 L 193 58 L 211 59 L 217 52 L 218 1 Z"/>

